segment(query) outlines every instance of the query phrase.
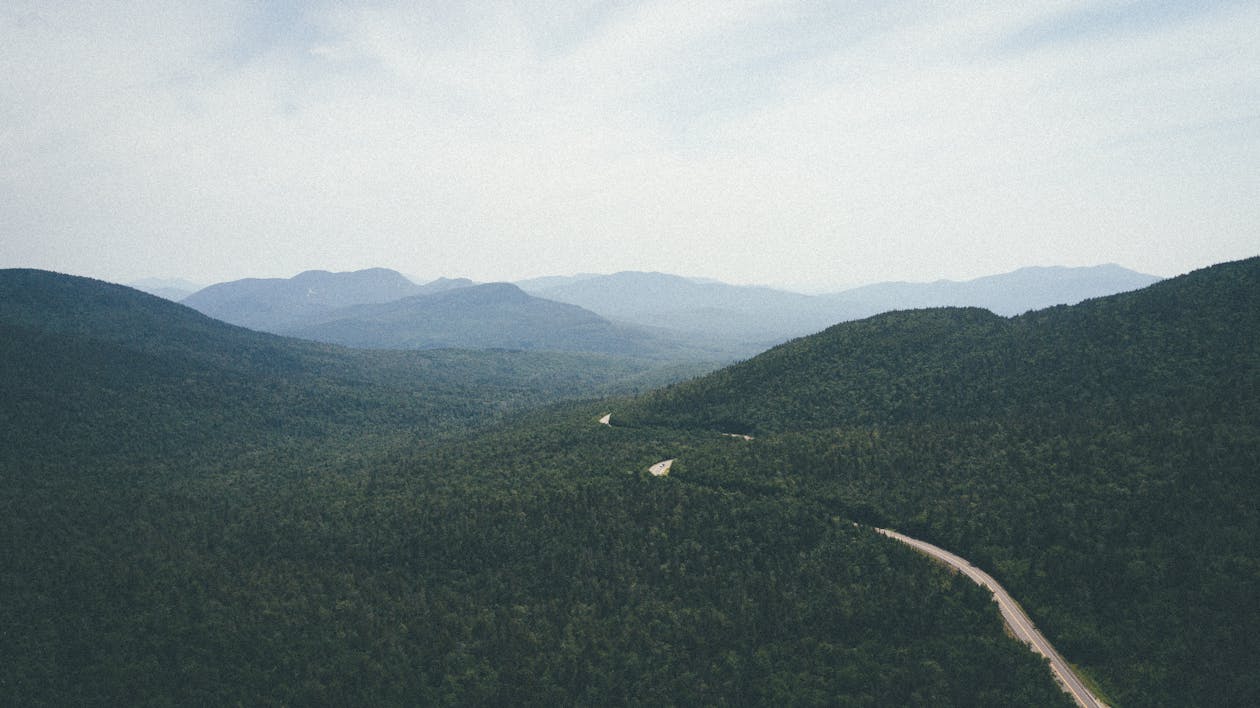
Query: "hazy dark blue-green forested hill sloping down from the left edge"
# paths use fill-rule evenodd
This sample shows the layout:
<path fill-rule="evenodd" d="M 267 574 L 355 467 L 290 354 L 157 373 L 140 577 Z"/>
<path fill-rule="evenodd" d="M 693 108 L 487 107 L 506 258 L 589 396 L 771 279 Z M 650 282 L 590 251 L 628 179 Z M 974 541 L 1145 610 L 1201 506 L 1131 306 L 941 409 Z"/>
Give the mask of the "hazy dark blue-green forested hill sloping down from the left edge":
<path fill-rule="evenodd" d="M 649 372 L 578 354 L 357 351 L 91 278 L 0 271 L 0 447 L 15 464 L 227 450 L 364 426 L 433 432 Z"/>

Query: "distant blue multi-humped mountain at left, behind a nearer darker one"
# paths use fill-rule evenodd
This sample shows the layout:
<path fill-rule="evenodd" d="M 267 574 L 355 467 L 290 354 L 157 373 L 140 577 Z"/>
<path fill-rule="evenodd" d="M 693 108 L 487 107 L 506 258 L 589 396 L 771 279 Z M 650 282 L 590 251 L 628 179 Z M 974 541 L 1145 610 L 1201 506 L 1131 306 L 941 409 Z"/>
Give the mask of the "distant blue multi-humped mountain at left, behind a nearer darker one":
<path fill-rule="evenodd" d="M 246 278 L 212 285 L 183 300 L 217 320 L 276 331 L 318 320 L 350 305 L 389 302 L 411 295 L 461 287 L 469 281 L 441 280 L 420 286 L 396 271 L 306 271 L 291 278 Z"/>

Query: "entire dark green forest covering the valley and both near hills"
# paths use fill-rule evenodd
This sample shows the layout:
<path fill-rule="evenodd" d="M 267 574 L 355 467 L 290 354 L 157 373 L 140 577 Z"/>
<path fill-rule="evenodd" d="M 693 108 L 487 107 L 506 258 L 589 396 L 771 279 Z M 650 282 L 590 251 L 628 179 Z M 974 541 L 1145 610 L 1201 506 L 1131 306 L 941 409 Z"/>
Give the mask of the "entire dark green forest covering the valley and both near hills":
<path fill-rule="evenodd" d="M 992 572 L 1116 705 L 1260 702 L 1260 260 L 638 397 L 696 372 L 0 276 L 3 703 L 1071 704 L 868 524 Z"/>

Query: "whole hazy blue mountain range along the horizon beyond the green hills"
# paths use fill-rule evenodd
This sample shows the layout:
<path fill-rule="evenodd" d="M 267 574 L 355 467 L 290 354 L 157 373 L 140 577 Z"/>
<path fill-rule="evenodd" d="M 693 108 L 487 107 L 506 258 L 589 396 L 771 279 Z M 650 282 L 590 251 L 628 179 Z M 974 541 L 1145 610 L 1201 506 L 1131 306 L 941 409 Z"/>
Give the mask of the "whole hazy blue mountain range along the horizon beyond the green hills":
<path fill-rule="evenodd" d="M 242 280 L 183 302 L 227 323 L 365 348 L 577 350 L 658 359 L 738 359 L 873 314 L 940 305 L 1014 315 L 1143 287 L 1119 266 L 1023 268 L 966 282 L 879 283 L 832 295 L 667 273 L 417 285 L 386 268 Z"/>

